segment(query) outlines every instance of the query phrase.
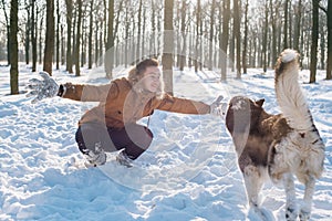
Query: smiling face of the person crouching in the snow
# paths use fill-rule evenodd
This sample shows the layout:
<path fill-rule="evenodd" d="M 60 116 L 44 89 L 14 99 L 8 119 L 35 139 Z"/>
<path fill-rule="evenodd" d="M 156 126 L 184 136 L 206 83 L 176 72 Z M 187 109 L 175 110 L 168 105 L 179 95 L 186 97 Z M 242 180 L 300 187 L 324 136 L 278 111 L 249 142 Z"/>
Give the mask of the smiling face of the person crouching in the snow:
<path fill-rule="evenodd" d="M 160 70 L 157 66 L 148 66 L 142 78 L 144 90 L 155 93 L 160 86 Z"/>

